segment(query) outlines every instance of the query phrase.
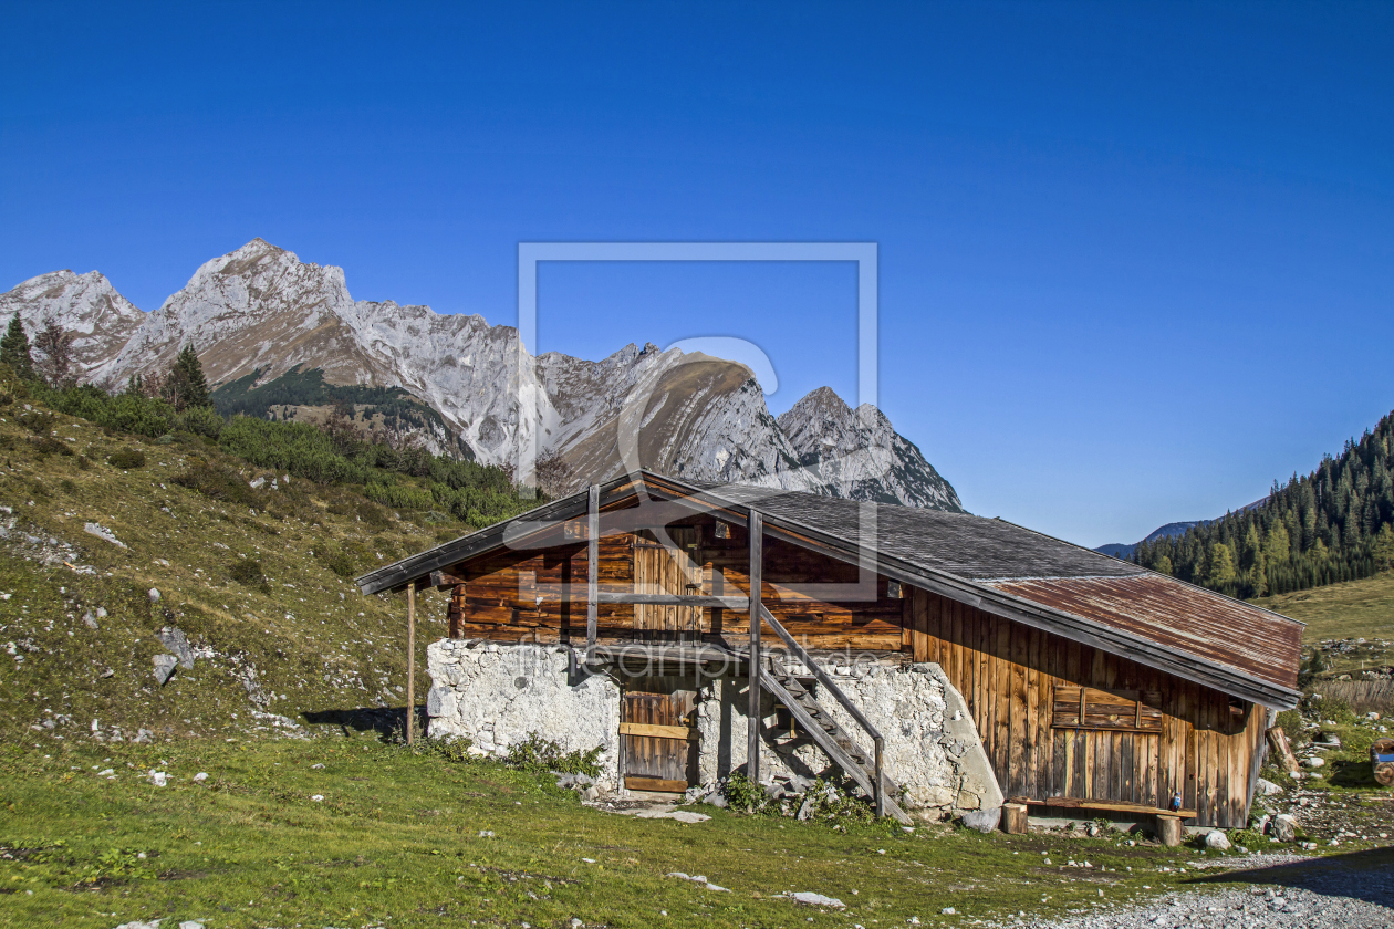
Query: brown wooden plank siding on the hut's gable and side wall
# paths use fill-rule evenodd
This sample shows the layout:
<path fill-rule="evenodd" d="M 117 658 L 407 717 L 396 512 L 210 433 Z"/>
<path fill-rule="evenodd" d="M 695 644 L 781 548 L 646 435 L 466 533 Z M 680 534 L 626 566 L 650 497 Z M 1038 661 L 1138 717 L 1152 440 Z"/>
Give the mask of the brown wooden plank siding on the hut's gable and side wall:
<path fill-rule="evenodd" d="M 602 513 L 602 522 L 613 510 Z M 730 525 L 726 538 L 718 538 L 715 521 L 697 515 L 671 529 L 682 561 L 658 547 L 650 532 L 602 536 L 601 589 L 750 593 L 743 526 Z M 463 584 L 450 598 L 452 635 L 584 642 L 584 532 L 569 526 L 548 545 L 454 565 L 450 572 Z M 1165 808 L 1179 791 L 1182 806 L 1197 811 L 1199 825 L 1243 825 L 1252 759 L 1263 747 L 1263 708 L 1243 703 L 1236 716 L 1220 691 L 909 584 L 901 585 L 903 598 L 891 598 L 884 577 L 877 578 L 875 598 L 861 602 L 829 602 L 795 589 L 856 581 L 856 565 L 765 538 L 761 598 L 785 628 L 813 652 L 898 655 L 938 664 L 967 703 L 1005 795 Z M 700 638 L 742 649 L 749 628 L 747 614 L 721 609 L 599 604 L 597 617 L 601 643 Z M 1161 724 L 1150 720 L 1133 731 L 1055 727 L 1057 685 L 1147 692 Z"/>

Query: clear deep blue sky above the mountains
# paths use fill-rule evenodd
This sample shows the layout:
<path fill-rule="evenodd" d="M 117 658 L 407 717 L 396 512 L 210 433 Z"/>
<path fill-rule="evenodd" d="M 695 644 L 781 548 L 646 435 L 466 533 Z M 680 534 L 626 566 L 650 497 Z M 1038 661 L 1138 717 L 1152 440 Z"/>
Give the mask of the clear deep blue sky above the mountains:
<path fill-rule="evenodd" d="M 516 244 L 875 241 L 881 405 L 1094 546 L 1394 408 L 1394 6 L 18 4 L 0 290 L 155 309 L 261 235 L 516 319 Z M 541 348 L 740 336 L 855 391 L 850 266 L 552 266 Z"/>

